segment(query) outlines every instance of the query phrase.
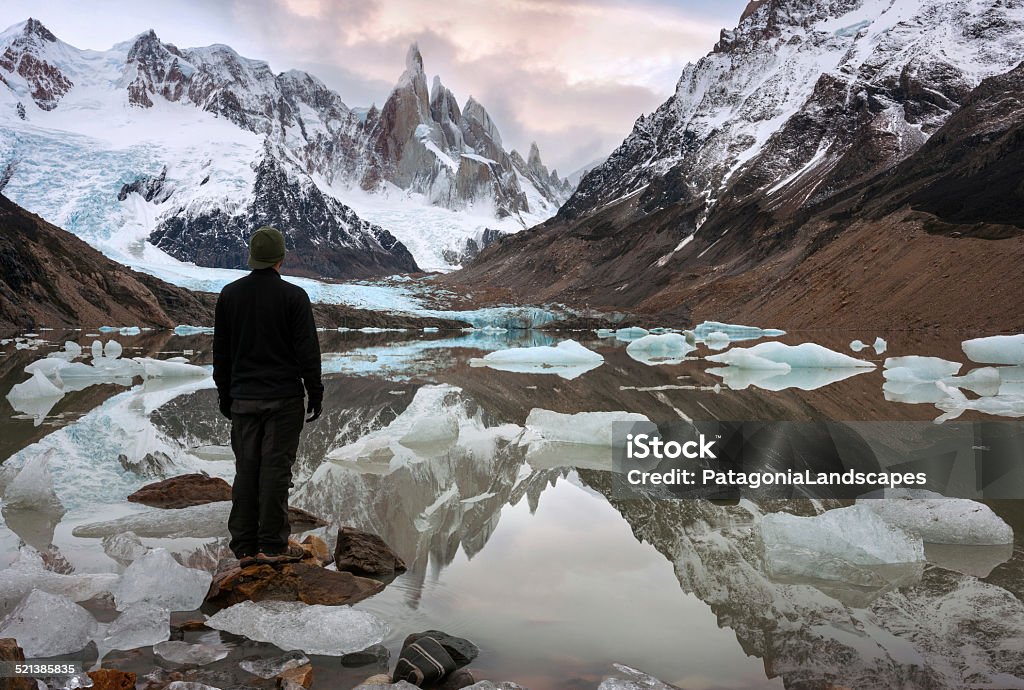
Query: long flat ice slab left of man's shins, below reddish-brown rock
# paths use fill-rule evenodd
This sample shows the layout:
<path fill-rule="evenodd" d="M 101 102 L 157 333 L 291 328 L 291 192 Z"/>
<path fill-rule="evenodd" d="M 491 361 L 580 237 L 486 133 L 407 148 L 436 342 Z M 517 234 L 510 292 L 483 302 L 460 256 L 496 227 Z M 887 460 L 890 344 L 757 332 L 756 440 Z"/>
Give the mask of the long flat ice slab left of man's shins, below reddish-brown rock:
<path fill-rule="evenodd" d="M 227 515 L 230 511 L 230 501 L 217 501 L 177 510 L 150 508 L 114 520 L 79 525 L 72 530 L 72 534 L 99 537 L 133 531 L 143 537 L 223 536 L 227 534 Z"/>

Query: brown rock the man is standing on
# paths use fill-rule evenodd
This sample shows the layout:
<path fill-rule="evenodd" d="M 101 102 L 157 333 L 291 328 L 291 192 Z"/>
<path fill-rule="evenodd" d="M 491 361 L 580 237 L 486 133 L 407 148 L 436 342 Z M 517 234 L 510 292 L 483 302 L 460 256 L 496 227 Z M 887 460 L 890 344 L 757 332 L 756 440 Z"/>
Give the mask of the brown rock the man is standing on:
<path fill-rule="evenodd" d="M 265 600 L 335 606 L 361 601 L 383 589 L 375 579 L 327 570 L 316 563 L 236 565 L 214 576 L 206 602 L 221 607 Z"/>

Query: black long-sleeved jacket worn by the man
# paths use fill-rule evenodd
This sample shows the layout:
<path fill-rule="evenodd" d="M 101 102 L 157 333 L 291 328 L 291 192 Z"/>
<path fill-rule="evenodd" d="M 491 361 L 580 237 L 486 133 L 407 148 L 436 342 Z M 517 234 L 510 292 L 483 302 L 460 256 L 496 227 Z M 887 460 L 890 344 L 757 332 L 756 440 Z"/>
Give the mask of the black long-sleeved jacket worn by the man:
<path fill-rule="evenodd" d="M 224 286 L 217 298 L 213 380 L 221 400 L 324 399 L 319 340 L 302 288 L 273 268 Z"/>

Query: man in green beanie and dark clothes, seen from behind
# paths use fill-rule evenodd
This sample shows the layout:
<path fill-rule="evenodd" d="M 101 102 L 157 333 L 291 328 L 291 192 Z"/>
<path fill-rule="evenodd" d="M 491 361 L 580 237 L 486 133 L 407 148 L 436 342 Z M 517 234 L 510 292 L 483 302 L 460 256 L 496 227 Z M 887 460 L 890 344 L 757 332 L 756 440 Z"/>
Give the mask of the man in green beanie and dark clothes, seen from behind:
<path fill-rule="evenodd" d="M 227 527 L 243 567 L 303 556 L 288 541 L 288 489 L 303 409 L 312 422 L 324 403 L 309 296 L 281 277 L 284 260 L 285 236 L 259 228 L 249 239 L 252 272 L 217 299 L 213 380 L 220 414 L 231 421 L 236 473 Z"/>

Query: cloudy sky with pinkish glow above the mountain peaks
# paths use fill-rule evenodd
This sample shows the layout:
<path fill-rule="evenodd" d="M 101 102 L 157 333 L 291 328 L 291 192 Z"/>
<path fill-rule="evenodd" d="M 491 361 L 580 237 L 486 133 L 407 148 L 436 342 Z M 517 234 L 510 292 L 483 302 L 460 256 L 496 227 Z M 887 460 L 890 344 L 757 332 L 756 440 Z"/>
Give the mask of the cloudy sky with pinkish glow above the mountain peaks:
<path fill-rule="evenodd" d="M 673 91 L 683 66 L 746 0 L 4 0 L 80 48 L 147 29 L 179 47 L 226 43 L 274 71 L 307 70 L 349 105 L 378 105 L 416 41 L 428 78 L 473 95 L 507 147 L 531 140 L 562 174 L 608 154 Z"/>

